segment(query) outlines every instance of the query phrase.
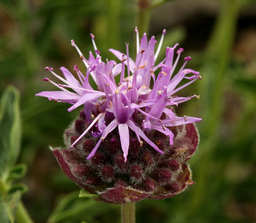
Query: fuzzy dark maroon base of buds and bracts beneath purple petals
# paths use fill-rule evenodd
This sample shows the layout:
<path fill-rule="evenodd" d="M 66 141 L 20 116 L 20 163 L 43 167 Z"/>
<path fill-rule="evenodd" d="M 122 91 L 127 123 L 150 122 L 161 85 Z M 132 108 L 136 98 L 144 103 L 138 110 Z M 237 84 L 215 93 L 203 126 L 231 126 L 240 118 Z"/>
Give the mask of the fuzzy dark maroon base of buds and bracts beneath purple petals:
<path fill-rule="evenodd" d="M 143 115 L 134 114 L 141 123 Z M 84 131 L 86 116 L 81 111 L 79 119 L 65 131 L 66 147 Z M 139 126 L 141 127 L 141 126 Z M 90 160 L 85 157 L 97 144 L 97 139 L 86 134 L 72 149 L 52 149 L 64 173 L 81 188 L 95 194 L 97 201 L 128 203 L 142 199 L 164 199 L 181 193 L 192 185 L 192 173 L 187 162 L 198 146 L 198 133 L 193 123 L 169 128 L 174 133 L 174 144 L 169 138 L 152 130 L 148 137 L 164 151 L 160 154 L 149 144 L 139 144 L 130 131 L 130 148 L 125 162 L 121 152 L 118 130 L 104 139 L 97 154 Z"/>

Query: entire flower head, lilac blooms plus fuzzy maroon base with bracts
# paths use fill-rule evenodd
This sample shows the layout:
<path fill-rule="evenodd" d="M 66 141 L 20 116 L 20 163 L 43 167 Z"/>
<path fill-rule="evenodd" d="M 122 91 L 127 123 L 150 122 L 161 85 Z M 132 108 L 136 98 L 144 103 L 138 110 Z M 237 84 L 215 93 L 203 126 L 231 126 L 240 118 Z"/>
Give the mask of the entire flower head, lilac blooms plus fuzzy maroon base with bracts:
<path fill-rule="evenodd" d="M 156 64 L 166 30 L 156 53 L 154 37 L 148 41 L 145 33 L 139 44 L 138 30 L 135 32 L 135 61 L 129 56 L 128 44 L 126 53 L 110 49 L 120 63 L 102 61 L 92 34 L 95 56 L 90 52 L 89 59 L 84 58 L 72 40 L 87 68 L 86 75 L 76 65 L 77 78 L 63 67 L 64 78 L 52 68 L 46 68 L 63 83 L 45 78 L 60 90 L 37 94 L 70 103 L 69 112 L 83 106 L 80 118 L 64 134 L 70 149 L 53 149 L 53 153 L 69 178 L 100 195 L 97 199 L 110 203 L 161 199 L 180 193 L 192 183 L 185 161 L 198 145 L 198 134 L 192 123 L 201 119 L 176 116 L 173 105 L 198 97 L 176 94 L 201 79 L 199 72 L 185 69 L 191 59 L 186 57 L 174 74 L 183 52 L 177 48 L 178 44 L 167 47 L 166 58 Z M 97 90 L 89 84 L 89 76 L 97 84 Z M 183 79 L 187 82 L 179 85 Z"/>

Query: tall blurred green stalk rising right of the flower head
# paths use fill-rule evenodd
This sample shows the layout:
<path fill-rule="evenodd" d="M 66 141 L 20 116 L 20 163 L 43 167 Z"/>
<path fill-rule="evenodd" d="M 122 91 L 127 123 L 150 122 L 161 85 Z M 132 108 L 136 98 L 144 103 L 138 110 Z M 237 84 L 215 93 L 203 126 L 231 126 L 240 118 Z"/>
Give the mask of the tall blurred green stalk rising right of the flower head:
<path fill-rule="evenodd" d="M 203 204 L 204 196 L 202 195 L 205 186 L 205 178 L 209 173 L 209 164 L 213 148 L 218 139 L 219 124 L 221 123 L 221 113 L 223 112 L 223 85 L 224 74 L 226 72 L 228 61 L 231 55 L 231 48 L 234 41 L 234 33 L 236 32 L 236 20 L 241 6 L 241 0 L 225 0 L 223 8 L 218 17 L 218 22 L 214 28 L 214 32 L 208 50 L 206 52 L 205 76 L 201 82 L 202 113 L 203 122 L 201 123 L 200 133 L 202 143 L 200 147 L 202 151 L 198 155 L 203 155 L 203 160 L 198 167 L 198 179 L 196 189 L 192 195 L 193 201 L 190 211 Z M 195 157 L 200 159 L 198 155 Z M 195 161 L 195 160 L 192 160 Z"/>

